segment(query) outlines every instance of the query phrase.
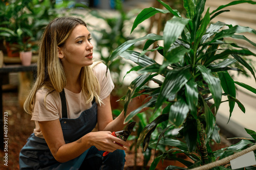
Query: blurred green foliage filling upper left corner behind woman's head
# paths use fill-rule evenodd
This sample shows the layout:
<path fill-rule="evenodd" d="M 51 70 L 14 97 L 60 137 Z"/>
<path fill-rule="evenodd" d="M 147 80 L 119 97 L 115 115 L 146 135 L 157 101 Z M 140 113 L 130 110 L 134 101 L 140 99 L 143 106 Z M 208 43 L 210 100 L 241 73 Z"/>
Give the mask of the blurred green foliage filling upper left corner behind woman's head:
<path fill-rule="evenodd" d="M 61 15 L 61 10 L 67 12 L 79 5 L 73 1 L 63 1 L 62 5 L 54 3 L 50 0 L 0 1 L 0 40 L 9 42 L 18 51 L 31 50 L 31 41 L 40 39 L 45 27 Z"/>

